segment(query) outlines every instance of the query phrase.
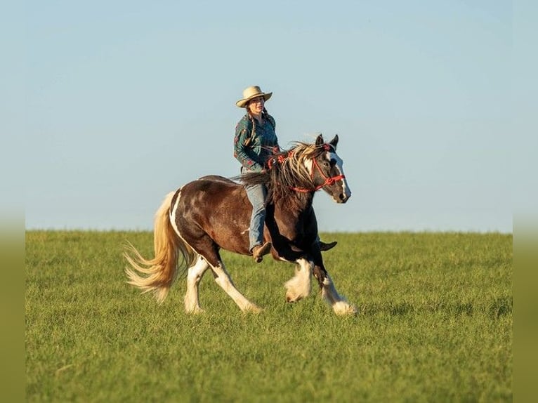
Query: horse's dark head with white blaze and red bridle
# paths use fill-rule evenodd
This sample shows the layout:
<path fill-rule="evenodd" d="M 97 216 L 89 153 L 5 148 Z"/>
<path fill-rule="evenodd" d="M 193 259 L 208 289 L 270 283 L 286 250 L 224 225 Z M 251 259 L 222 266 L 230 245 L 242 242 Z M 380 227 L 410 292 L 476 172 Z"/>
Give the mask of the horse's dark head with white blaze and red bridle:
<path fill-rule="evenodd" d="M 351 191 L 343 174 L 343 161 L 336 154 L 338 135 L 324 143 L 320 134 L 315 141 L 315 149 L 311 163 L 307 165 L 316 190 L 323 189 L 330 194 L 336 203 L 346 203 L 351 197 Z"/>

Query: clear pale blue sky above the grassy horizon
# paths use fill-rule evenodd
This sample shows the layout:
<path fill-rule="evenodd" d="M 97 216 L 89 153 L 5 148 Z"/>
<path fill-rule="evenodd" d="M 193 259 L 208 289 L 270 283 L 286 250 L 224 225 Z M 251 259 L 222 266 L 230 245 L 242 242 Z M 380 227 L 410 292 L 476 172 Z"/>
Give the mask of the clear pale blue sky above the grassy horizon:
<path fill-rule="evenodd" d="M 282 147 L 339 134 L 353 195 L 316 195 L 321 231 L 512 232 L 510 1 L 21 12 L 27 229 L 150 230 L 166 193 L 239 173 L 235 101 L 258 85 Z"/>

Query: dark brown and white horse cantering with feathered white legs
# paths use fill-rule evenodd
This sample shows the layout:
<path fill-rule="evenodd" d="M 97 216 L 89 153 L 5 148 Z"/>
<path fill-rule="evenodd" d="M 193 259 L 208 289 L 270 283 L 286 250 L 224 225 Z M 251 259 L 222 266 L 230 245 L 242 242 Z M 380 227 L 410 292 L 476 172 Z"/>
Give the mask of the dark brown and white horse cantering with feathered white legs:
<path fill-rule="evenodd" d="M 264 242 L 272 242 L 275 260 L 296 263 L 295 275 L 284 284 L 285 299 L 294 303 L 310 295 L 311 276 L 317 279 L 324 300 L 336 315 L 355 314 L 355 305 L 341 296 L 324 267 L 317 238 L 313 197 L 324 190 L 334 202 L 346 203 L 351 196 L 343 161 L 336 154 L 338 135 L 324 143 L 295 143 L 290 150 L 275 154 L 268 169 L 234 178 L 204 176 L 164 198 L 155 213 L 154 258 L 143 258 L 132 244 L 124 257 L 128 283 L 143 292 L 151 291 L 162 303 L 178 270 L 187 268 L 185 312 L 203 312 L 199 305 L 199 282 L 211 269 L 216 283 L 243 312 L 261 308 L 237 290 L 225 269 L 219 251 L 225 249 L 252 256 L 249 223 L 252 206 L 245 186 L 263 183 L 268 190 Z"/>

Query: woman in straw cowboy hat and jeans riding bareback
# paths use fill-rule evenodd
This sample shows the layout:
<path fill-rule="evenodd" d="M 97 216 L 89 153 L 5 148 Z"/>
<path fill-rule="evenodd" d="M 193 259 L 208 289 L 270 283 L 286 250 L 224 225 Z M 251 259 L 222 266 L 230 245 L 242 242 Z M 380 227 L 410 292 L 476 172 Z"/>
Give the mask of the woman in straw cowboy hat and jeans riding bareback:
<path fill-rule="evenodd" d="M 258 86 L 251 86 L 243 91 L 243 98 L 235 105 L 244 107 L 247 114 L 235 126 L 234 157 L 241 163 L 241 173 L 263 172 L 265 163 L 280 151 L 275 133 L 275 119 L 265 109 L 265 101 L 273 93 L 264 93 Z M 271 249 L 270 242 L 263 242 L 263 225 L 265 223 L 265 185 L 247 186 L 247 197 L 252 204 L 252 216 L 249 231 L 249 248 L 256 263 Z M 324 244 L 320 249 L 328 251 L 336 242 Z"/>

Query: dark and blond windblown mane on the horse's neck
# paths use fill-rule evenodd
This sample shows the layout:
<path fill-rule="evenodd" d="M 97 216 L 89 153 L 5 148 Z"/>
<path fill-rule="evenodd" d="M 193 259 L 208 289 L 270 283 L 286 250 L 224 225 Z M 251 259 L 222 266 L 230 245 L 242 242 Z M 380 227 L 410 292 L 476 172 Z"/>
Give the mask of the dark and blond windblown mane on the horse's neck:
<path fill-rule="evenodd" d="M 324 152 L 324 145 L 296 142 L 294 147 L 275 154 L 270 169 L 263 173 L 249 172 L 235 179 L 243 185 L 264 184 L 268 188 L 268 203 L 288 198 L 300 190 L 315 190 L 313 179 L 306 169 L 307 159 L 315 159 Z"/>

